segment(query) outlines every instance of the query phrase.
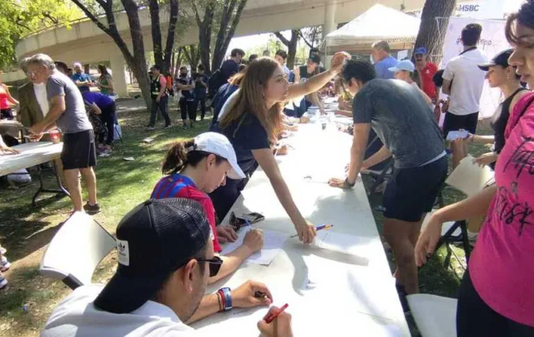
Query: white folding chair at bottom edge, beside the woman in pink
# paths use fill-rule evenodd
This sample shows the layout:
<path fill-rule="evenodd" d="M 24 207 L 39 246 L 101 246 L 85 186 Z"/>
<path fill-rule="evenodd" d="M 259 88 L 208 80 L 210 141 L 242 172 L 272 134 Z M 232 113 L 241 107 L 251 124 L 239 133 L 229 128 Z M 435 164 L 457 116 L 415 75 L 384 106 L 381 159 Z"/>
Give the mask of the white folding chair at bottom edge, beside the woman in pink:
<path fill-rule="evenodd" d="M 414 294 L 406 299 L 422 337 L 456 337 L 456 304 L 454 298 Z"/>

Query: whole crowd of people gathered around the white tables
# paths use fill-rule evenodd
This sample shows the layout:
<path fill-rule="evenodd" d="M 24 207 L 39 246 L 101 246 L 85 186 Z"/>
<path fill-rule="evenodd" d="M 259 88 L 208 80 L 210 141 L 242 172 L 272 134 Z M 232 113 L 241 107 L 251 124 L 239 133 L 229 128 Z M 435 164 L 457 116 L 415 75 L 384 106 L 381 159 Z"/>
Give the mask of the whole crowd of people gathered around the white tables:
<path fill-rule="evenodd" d="M 195 336 L 188 327 L 191 322 L 234 307 L 269 306 L 268 287 L 254 281 L 204 295 L 207 284 L 231 275 L 263 245 L 261 230 L 252 230 L 236 250 L 220 255 L 221 243 L 236 241 L 238 226 L 219 223 L 261 167 L 300 241 L 314 240 L 316 227 L 293 202 L 275 155 L 286 153 L 277 148 L 284 130 L 295 130 L 289 116 L 300 117 L 311 105 L 323 109 L 321 91 L 332 82 L 339 114 L 353 119 L 353 144 L 346 154 L 346 177 L 330 179 L 330 186 L 351 189 L 359 173 L 393 160 L 383 191 L 382 234 L 394 254 L 401 302 L 405 295 L 419 293 L 418 267 L 434 253 L 442 223 L 485 216 L 458 294 L 458 336 L 534 336 L 534 94 L 527 89 L 534 86 L 534 1 L 526 1 L 508 17 L 505 35 L 512 49 L 492 60 L 477 47 L 481 31 L 478 24 L 463 28 L 464 50 L 442 71 L 428 60 L 423 46 L 414 49 L 414 62 L 398 61 L 385 41 L 373 44 L 374 63 L 350 60 L 342 52 L 333 56 L 328 70 L 316 51 L 293 71 L 285 65 L 284 51 L 274 58 L 251 55 L 242 67 L 241 49 L 234 49 L 211 78 L 202 67 L 191 76 L 182 67 L 175 80 L 159 66 L 152 67 L 149 128 L 154 128 L 158 110 L 170 126 L 168 95 L 176 88 L 184 128 L 187 118 L 189 127 L 194 126 L 199 106 L 205 116 L 205 101 L 211 99 L 210 132 L 168 150 L 163 178 L 149 200 L 117 227 L 122 250 L 113 278 L 106 286 L 76 288 L 51 314 L 42 336 Z M 31 84 L 22 89 L 33 87 L 36 97 L 33 103 L 23 103 L 26 98 L 21 96 L 20 103 L 31 135 L 38 140 L 53 127 L 63 132 L 60 164 L 74 210 L 98 211 L 95 135 L 84 103 L 102 115 L 106 112 L 102 121 L 107 126 L 115 110 L 113 100 L 87 90 L 90 83 L 79 64 L 74 64 L 72 78 L 58 71 L 47 55 L 33 56 L 24 67 Z M 104 85 L 113 87 L 104 70 Z M 476 134 L 485 80 L 498 87 L 503 98 L 491 121 L 494 136 Z M 440 100 L 440 92 L 448 96 L 446 101 Z M 40 114 L 29 112 L 37 108 Z M 467 130 L 468 136 L 447 144 L 448 133 L 457 130 Z M 100 141 L 107 145 L 109 139 Z M 495 183 L 435 211 L 421 230 L 448 175 L 449 153 L 455 168 L 471 142 L 494 144 L 492 152 L 475 160 L 492 166 Z M 1 139 L 0 150 L 13 151 Z M 88 187 L 85 206 L 79 174 Z M 3 253 L 0 250 L 0 257 Z M 2 270 L 9 268 L 6 263 Z M 0 286 L 2 280 L 0 273 Z M 271 307 L 269 314 L 277 311 Z M 257 325 L 262 336 L 292 336 L 289 313 L 273 322 L 266 318 Z"/>

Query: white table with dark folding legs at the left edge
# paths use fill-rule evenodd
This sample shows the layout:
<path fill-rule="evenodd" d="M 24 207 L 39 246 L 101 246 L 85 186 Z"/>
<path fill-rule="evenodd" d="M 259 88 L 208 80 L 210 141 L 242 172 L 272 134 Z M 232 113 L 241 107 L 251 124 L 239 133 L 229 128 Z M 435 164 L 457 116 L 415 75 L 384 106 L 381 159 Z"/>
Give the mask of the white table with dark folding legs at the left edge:
<path fill-rule="evenodd" d="M 45 189 L 43 186 L 40 164 L 51 162 L 61 156 L 63 143 L 53 144 L 50 141 L 36 141 L 13 146 L 20 151 L 18 155 L 0 155 L 0 176 L 8 175 L 22 168 L 37 166 L 39 178 L 39 189 L 32 198 L 32 205 L 35 206 L 35 200 L 40 193 L 63 193 L 69 196 L 67 190 L 61 184 L 56 166 L 52 164 L 59 189 Z"/>

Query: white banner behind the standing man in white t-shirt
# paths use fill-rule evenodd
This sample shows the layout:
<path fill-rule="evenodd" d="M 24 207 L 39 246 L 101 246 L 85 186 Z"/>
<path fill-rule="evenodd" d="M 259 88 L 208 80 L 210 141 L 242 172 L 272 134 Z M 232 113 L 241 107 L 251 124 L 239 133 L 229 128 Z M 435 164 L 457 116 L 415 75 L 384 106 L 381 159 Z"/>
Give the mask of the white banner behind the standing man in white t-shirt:
<path fill-rule="evenodd" d="M 448 61 L 462 53 L 464 49 L 461 39 L 462 28 L 467 26 L 467 24 L 480 24 L 482 26 L 482 35 L 480 36 L 478 49 L 487 56 L 488 60 L 491 60 L 497 53 L 511 48 L 504 35 L 504 21 L 451 17 L 448 20 L 447 32 L 443 44 L 443 58 L 439 69 L 444 69 Z M 482 97 L 480 98 L 479 119 L 493 116 L 499 103 L 501 103 L 501 91 L 490 88 L 486 81 Z"/>

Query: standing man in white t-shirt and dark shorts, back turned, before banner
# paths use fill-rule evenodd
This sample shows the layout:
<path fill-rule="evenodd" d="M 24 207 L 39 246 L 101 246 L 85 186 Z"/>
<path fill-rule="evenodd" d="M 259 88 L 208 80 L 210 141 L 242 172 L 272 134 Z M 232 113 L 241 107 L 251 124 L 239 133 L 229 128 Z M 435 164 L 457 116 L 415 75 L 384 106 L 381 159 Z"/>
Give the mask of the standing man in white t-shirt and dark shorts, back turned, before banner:
<path fill-rule="evenodd" d="M 480 33 L 480 24 L 468 24 L 462 29 L 464 51 L 448 62 L 443 72 L 442 90 L 451 98 L 443 125 L 444 137 L 447 137 L 450 131 L 461 129 L 473 135 L 476 133 L 480 96 L 485 80 L 485 72 L 478 68 L 478 64 L 487 62 L 485 55 L 476 47 Z M 460 160 L 467 156 L 467 145 L 463 142 L 453 142 L 451 150 L 455 168 Z"/>

